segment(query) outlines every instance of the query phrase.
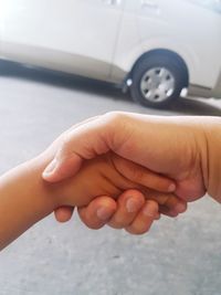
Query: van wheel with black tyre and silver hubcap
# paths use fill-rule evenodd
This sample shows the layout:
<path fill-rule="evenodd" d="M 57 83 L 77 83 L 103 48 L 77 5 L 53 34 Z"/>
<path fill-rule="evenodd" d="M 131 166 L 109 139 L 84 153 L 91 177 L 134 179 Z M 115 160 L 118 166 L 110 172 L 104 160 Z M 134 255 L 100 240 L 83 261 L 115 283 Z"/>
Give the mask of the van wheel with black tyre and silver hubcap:
<path fill-rule="evenodd" d="M 183 71 L 176 59 L 150 55 L 133 70 L 130 94 L 135 102 L 162 108 L 178 99 L 185 85 Z"/>

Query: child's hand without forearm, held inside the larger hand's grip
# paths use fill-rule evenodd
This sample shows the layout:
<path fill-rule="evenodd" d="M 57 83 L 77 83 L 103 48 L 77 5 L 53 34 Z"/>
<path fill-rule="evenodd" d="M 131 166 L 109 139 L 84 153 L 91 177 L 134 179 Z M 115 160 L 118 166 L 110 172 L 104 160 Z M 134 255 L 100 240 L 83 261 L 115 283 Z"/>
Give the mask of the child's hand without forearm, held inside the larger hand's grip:
<path fill-rule="evenodd" d="M 90 181 L 91 178 L 91 181 Z M 82 180 L 81 180 L 82 179 Z M 76 183 L 87 183 L 84 189 L 77 189 Z M 70 180 L 65 180 L 62 183 L 67 183 Z M 75 183 L 75 185 L 74 185 Z M 69 194 L 69 201 L 62 193 L 62 204 L 72 206 L 73 191 L 78 191 L 83 198 L 74 198 L 76 206 L 87 204 L 93 198 L 91 196 L 112 196 L 118 197 L 123 191 L 129 188 L 136 188 L 144 192 L 146 198 L 157 200 L 160 206 L 160 211 L 175 215 L 175 208 L 180 201 L 176 196 L 171 193 L 160 193 L 150 190 L 148 187 L 157 188 L 161 191 L 170 190 L 169 187 L 172 182 L 169 179 L 161 178 L 155 175 L 141 166 L 135 165 L 128 160 L 125 160 L 114 154 L 107 154 L 105 156 L 97 157 L 95 160 L 90 160 L 84 165 L 84 168 L 73 178 L 72 185 L 64 191 Z M 67 186 L 67 187 L 69 187 Z M 81 186 L 80 186 L 81 187 Z M 86 199 L 85 199 L 86 196 Z M 77 200 L 78 199 L 78 200 Z M 185 211 L 186 203 L 182 202 Z"/>

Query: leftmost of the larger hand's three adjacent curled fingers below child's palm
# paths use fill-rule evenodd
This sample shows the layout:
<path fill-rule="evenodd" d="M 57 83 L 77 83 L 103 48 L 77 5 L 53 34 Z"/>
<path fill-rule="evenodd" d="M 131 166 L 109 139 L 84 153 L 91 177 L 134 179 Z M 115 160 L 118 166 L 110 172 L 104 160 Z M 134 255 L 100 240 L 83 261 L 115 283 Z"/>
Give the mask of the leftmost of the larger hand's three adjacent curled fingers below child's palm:
<path fill-rule="evenodd" d="M 116 210 L 115 200 L 104 196 L 97 197 L 87 207 L 78 208 L 78 214 L 85 225 L 98 230 L 108 222 Z"/>

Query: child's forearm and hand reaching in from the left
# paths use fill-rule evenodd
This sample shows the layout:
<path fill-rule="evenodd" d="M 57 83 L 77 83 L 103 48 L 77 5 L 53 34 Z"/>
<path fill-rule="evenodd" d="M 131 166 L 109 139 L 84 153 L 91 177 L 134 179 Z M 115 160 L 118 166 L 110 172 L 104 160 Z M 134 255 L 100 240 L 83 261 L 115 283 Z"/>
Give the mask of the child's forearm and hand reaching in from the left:
<path fill-rule="evenodd" d="M 81 208 L 97 196 L 106 194 L 116 199 L 127 189 L 138 189 L 148 199 L 157 199 L 162 208 L 177 203 L 176 196 L 160 192 L 168 191 L 172 183 L 169 179 L 154 175 L 113 152 L 85 161 L 78 173 L 72 178 L 59 183 L 48 183 L 41 175 L 52 158 L 52 150 L 53 148 L 48 149 L 0 178 L 1 250 L 57 207 Z M 146 183 L 160 191 L 149 189 Z M 158 206 L 148 201 L 144 210 L 145 214 L 133 226 L 144 226 L 144 231 L 147 231 L 152 220 L 158 218 Z M 130 218 L 133 221 L 134 212 Z M 130 230 L 133 228 L 128 228 Z"/>

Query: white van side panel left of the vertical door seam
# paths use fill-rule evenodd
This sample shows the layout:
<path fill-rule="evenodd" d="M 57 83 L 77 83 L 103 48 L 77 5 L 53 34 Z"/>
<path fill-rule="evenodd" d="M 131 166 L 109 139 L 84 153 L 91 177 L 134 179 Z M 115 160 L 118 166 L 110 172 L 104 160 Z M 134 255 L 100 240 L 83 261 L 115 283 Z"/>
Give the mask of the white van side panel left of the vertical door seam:
<path fill-rule="evenodd" d="M 54 0 L 3 3 L 2 56 L 88 76 L 109 76 L 124 2 L 112 7 L 101 0 L 66 0 L 65 6 Z"/>

